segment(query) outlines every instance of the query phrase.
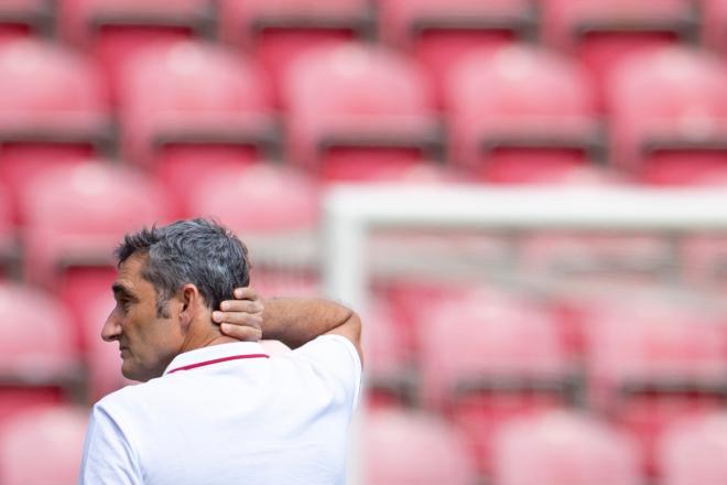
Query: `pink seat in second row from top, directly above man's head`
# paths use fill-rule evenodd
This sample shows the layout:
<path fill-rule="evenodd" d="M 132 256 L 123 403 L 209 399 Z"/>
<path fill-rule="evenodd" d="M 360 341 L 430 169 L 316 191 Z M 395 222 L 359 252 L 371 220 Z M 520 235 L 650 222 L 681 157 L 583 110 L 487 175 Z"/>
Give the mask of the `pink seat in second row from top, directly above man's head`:
<path fill-rule="evenodd" d="M 147 50 L 122 74 L 124 153 L 167 186 L 176 216 L 188 211 L 192 185 L 273 154 L 269 93 L 250 63 L 211 44 L 183 42 Z"/>

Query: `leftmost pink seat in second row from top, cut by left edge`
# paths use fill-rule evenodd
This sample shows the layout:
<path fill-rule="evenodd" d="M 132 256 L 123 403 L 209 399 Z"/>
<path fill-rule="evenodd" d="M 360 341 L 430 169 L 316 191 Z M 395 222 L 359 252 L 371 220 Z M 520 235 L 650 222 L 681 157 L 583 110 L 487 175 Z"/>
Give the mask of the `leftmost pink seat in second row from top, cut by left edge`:
<path fill-rule="evenodd" d="M 0 45 L 0 179 L 13 205 L 37 173 L 105 152 L 110 134 L 104 93 L 86 60 L 39 41 Z"/>

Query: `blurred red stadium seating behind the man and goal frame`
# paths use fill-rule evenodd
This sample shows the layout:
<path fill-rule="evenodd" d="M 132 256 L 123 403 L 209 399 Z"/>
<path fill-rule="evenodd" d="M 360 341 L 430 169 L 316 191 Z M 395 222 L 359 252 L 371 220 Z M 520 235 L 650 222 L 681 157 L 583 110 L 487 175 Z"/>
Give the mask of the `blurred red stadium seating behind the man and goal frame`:
<path fill-rule="evenodd" d="M 338 183 L 727 192 L 727 1 L 0 0 L 0 485 L 75 483 L 128 384 L 126 231 L 214 216 L 318 295 Z M 536 223 L 358 235 L 358 482 L 727 484 L 724 224 Z"/>

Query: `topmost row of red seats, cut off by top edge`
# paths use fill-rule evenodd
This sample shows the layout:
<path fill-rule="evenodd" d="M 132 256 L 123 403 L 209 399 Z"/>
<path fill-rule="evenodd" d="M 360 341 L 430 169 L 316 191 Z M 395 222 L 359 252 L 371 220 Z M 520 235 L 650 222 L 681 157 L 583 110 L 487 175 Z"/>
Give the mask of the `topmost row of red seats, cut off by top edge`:
<path fill-rule="evenodd" d="M 725 0 L 12 0 L 0 39 L 57 31 L 112 74 L 141 44 L 219 37 L 256 54 L 274 79 L 310 46 L 381 39 L 442 80 L 473 48 L 518 40 L 580 57 L 598 78 L 625 53 L 703 41 L 727 52 Z"/>

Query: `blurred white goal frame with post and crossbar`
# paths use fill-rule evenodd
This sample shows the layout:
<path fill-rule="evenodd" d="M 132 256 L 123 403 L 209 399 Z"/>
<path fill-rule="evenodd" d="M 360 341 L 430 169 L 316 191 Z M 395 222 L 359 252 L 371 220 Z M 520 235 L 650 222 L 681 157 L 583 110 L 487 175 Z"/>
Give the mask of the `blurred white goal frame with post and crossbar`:
<path fill-rule="evenodd" d="M 727 188 L 338 185 L 323 201 L 325 294 L 366 313 L 366 244 L 379 228 L 727 230 Z M 364 484 L 354 423 L 349 481 Z"/>

